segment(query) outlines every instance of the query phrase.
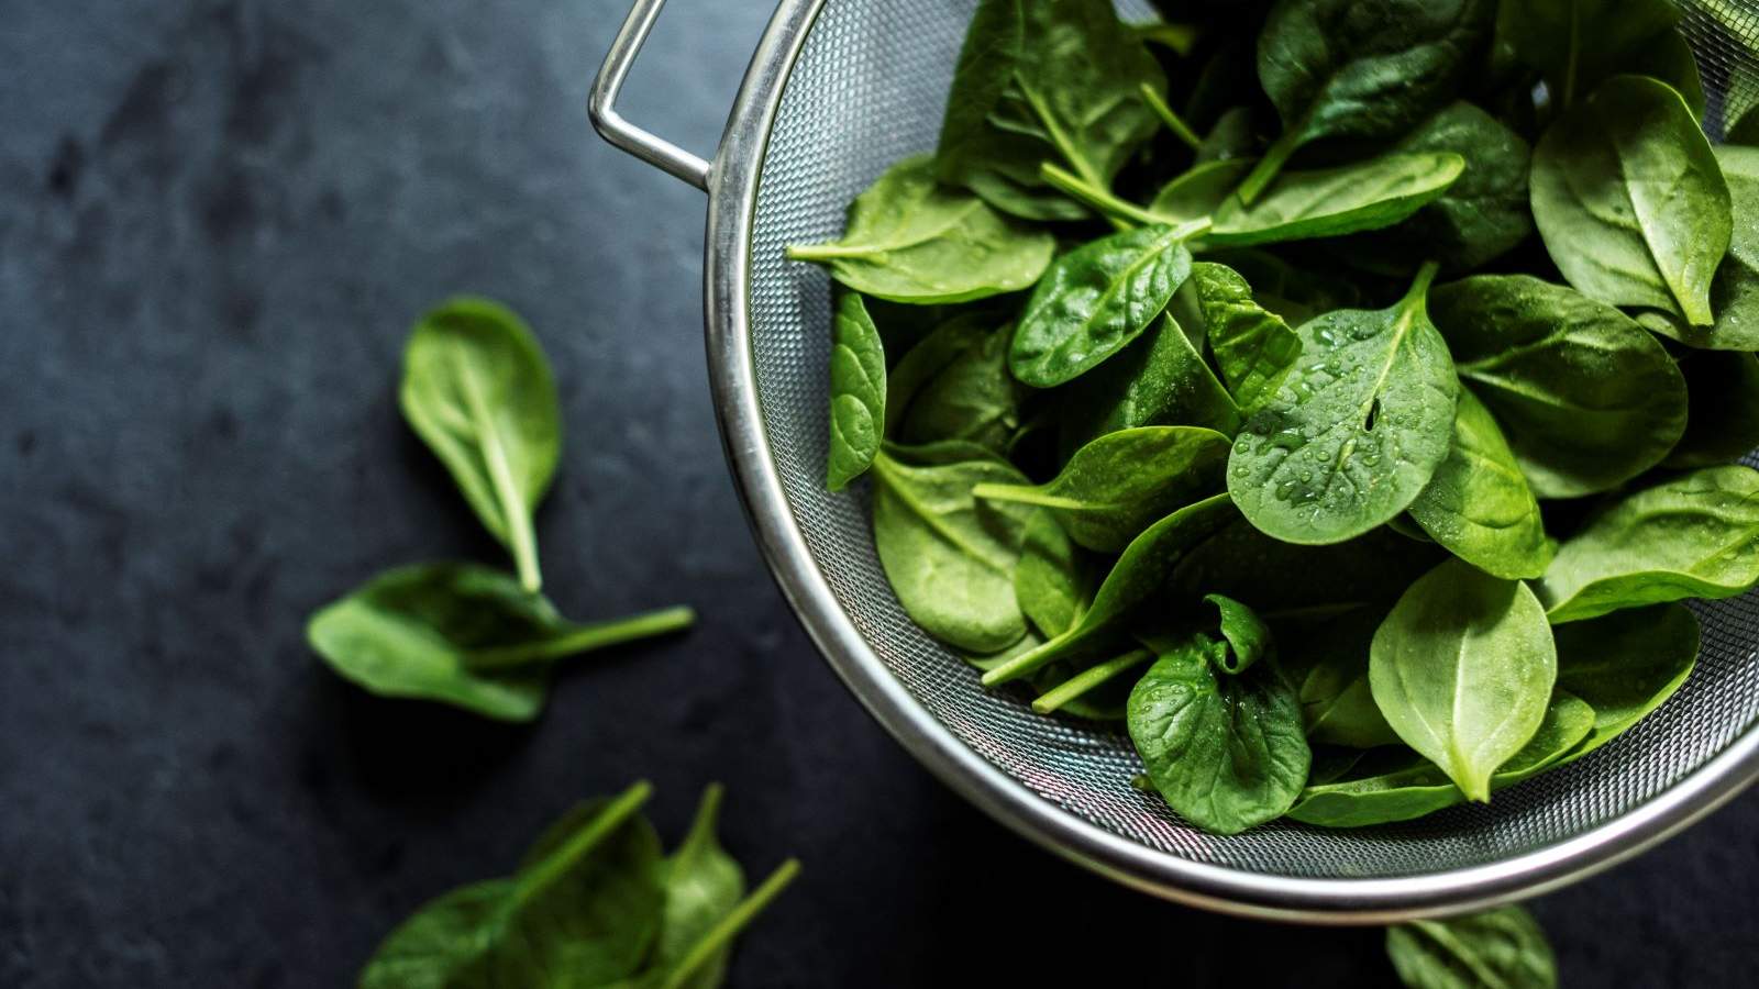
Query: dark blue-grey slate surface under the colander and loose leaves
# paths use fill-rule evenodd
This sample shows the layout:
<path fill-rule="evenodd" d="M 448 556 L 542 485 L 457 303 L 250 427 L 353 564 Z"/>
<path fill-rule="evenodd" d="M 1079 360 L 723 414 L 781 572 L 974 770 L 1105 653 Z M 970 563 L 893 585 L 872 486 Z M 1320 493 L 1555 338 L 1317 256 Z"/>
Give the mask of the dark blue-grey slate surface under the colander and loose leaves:
<path fill-rule="evenodd" d="M 646 776 L 675 836 L 807 873 L 735 985 L 1374 985 L 1374 931 L 1161 905 L 911 764 L 770 586 L 698 343 L 704 202 L 582 106 L 621 0 L 0 5 L 0 985 L 338 985 L 408 910 Z M 675 0 L 630 113 L 707 148 L 767 16 Z M 538 327 L 542 517 L 593 660 L 503 729 L 362 697 L 301 644 L 376 568 L 494 547 L 398 419 L 410 319 Z M 1750 985 L 1759 797 L 1541 901 L 1576 985 Z"/>

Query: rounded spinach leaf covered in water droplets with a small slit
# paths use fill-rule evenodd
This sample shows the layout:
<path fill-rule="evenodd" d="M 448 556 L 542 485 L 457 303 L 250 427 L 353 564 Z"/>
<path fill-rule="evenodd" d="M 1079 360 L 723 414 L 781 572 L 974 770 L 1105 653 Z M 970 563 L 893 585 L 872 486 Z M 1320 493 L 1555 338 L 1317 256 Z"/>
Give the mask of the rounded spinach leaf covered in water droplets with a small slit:
<path fill-rule="evenodd" d="M 1286 542 L 1344 542 L 1404 512 L 1448 456 L 1458 382 L 1425 311 L 1425 266 L 1386 310 L 1339 310 L 1298 331 L 1282 392 L 1228 461 L 1240 512 Z"/>

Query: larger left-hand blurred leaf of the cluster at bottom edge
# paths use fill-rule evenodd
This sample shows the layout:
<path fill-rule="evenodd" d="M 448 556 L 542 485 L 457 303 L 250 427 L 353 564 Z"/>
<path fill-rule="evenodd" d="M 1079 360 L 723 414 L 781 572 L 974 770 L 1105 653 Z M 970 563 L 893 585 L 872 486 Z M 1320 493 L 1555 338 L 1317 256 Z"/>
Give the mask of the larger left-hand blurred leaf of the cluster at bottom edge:
<path fill-rule="evenodd" d="M 639 783 L 512 878 L 417 910 L 361 971 L 361 989 L 609 985 L 660 934 L 660 839 L 637 813 Z"/>

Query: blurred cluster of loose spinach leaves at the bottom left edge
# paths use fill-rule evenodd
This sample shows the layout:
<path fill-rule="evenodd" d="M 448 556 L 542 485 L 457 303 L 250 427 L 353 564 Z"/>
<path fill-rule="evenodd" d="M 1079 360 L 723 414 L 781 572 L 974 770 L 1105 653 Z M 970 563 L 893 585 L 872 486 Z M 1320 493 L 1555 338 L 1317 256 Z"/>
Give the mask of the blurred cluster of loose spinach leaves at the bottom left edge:
<path fill-rule="evenodd" d="M 639 815 L 651 788 L 570 811 L 507 878 L 417 910 L 361 971 L 362 989 L 572 985 L 712 989 L 732 938 L 799 873 L 777 868 L 751 896 L 714 838 L 711 787 L 684 845 L 661 857 Z"/>

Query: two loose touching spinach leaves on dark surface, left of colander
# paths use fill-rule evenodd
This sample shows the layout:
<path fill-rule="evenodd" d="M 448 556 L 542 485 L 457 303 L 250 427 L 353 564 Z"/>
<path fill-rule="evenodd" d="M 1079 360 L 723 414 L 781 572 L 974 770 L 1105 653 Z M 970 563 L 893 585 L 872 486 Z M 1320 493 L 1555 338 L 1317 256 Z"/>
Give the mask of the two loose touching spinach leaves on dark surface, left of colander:
<path fill-rule="evenodd" d="M 531 516 L 561 459 L 549 361 L 526 324 L 487 299 L 452 299 L 410 333 L 403 417 L 445 463 L 517 575 L 419 563 L 318 609 L 306 641 L 343 678 L 383 697 L 438 700 L 529 722 L 556 660 L 690 628 L 688 607 L 580 625 L 538 593 Z"/>

